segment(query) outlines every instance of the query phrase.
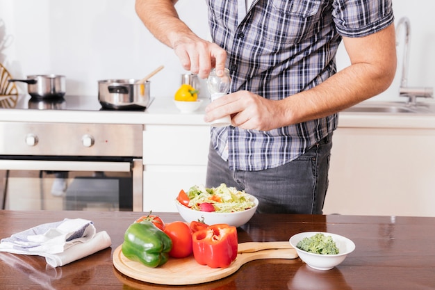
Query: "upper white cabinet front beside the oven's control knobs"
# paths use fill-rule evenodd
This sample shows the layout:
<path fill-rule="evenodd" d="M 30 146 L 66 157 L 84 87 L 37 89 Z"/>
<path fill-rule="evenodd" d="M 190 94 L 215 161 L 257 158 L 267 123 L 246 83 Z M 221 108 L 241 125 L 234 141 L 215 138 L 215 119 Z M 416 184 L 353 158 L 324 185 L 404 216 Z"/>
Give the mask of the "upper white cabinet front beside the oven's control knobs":
<path fill-rule="evenodd" d="M 146 125 L 143 132 L 145 165 L 204 166 L 210 126 Z"/>

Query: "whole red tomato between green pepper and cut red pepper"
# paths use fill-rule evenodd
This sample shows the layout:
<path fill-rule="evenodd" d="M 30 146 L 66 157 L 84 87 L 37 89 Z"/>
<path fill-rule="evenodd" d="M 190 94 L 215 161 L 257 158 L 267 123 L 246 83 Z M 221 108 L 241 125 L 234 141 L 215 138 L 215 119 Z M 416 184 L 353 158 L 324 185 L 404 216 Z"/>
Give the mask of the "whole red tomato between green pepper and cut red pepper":
<path fill-rule="evenodd" d="M 174 258 L 184 258 L 192 255 L 192 234 L 186 223 L 173 222 L 168 223 L 164 232 L 172 240 L 172 249 L 169 255 Z"/>

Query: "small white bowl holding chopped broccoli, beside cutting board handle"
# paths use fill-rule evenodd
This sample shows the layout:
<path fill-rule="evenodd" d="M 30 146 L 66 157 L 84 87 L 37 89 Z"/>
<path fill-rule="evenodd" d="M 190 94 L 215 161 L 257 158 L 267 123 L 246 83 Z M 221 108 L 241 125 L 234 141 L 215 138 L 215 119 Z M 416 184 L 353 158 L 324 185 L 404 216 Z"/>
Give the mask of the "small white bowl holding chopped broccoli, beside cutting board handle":
<path fill-rule="evenodd" d="M 337 255 L 320 255 L 312 252 L 305 252 L 296 247 L 297 243 L 302 239 L 315 234 L 322 233 L 325 236 L 331 236 L 333 241 L 336 243 L 339 254 Z M 290 245 L 295 248 L 297 255 L 302 259 L 308 266 L 315 268 L 317 270 L 329 270 L 340 264 L 351 252 L 355 250 L 355 244 L 350 239 L 338 234 L 331 234 L 328 232 L 301 232 L 295 234 L 290 238 Z"/>

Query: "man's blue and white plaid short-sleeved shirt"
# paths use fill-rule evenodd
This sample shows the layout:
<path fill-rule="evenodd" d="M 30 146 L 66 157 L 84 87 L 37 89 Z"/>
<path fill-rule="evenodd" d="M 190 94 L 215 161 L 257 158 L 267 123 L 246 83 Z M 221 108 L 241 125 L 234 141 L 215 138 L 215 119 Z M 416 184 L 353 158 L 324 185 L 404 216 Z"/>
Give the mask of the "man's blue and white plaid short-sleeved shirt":
<path fill-rule="evenodd" d="M 284 99 L 336 72 L 341 35 L 393 23 L 392 0 L 206 0 L 213 41 L 227 51 L 231 92 Z M 239 11 L 239 13 L 238 13 Z M 265 170 L 297 159 L 337 127 L 338 115 L 270 131 L 220 127 L 213 147 L 231 170 Z"/>

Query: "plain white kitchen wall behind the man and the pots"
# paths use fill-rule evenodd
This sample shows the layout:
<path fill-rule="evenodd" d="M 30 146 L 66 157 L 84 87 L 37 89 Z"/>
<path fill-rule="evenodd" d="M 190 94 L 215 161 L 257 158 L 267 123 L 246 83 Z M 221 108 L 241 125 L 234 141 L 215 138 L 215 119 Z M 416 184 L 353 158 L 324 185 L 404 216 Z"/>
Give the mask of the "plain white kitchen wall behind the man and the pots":
<path fill-rule="evenodd" d="M 409 86 L 435 86 L 435 1 L 393 0 L 396 21 L 411 19 Z M 181 18 L 208 38 L 204 0 L 177 3 Z M 100 79 L 145 76 L 159 65 L 165 70 L 151 79 L 151 95 L 172 97 L 184 72 L 171 49 L 161 45 L 138 19 L 134 0 L 0 0 L 0 63 L 15 78 L 29 74 L 65 74 L 68 95 L 97 96 Z M 402 47 L 399 47 L 399 54 Z M 400 63 L 401 63 L 401 57 Z M 348 65 L 343 48 L 338 68 Z M 398 99 L 398 79 L 376 99 Z M 21 92 L 26 85 L 20 84 Z"/>

